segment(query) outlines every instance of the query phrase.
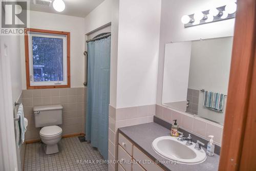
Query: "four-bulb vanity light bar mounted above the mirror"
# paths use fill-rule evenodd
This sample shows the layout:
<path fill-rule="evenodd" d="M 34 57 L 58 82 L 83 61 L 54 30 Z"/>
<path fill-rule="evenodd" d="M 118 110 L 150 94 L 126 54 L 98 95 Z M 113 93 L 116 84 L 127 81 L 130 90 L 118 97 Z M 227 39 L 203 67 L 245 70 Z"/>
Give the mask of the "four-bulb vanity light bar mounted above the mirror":
<path fill-rule="evenodd" d="M 195 14 L 183 15 L 181 17 L 181 22 L 184 27 L 191 27 L 202 25 L 206 23 L 218 22 L 225 19 L 231 19 L 236 16 L 237 4 L 229 3 L 225 6 L 211 8 L 206 11 L 198 11 Z"/>

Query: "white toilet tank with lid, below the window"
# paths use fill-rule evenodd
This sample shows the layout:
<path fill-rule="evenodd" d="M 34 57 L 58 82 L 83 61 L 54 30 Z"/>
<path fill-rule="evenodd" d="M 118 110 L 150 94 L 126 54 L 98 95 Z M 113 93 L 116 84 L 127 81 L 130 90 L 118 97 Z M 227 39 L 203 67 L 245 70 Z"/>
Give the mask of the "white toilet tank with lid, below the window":
<path fill-rule="evenodd" d="M 35 127 L 62 124 L 62 105 L 34 106 Z"/>

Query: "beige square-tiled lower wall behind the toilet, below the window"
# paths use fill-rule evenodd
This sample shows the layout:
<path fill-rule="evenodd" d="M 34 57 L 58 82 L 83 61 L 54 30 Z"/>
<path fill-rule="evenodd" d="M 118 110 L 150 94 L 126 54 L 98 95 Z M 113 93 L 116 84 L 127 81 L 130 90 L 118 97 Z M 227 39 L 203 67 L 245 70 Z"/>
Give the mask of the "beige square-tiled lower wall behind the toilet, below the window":
<path fill-rule="evenodd" d="M 23 90 L 25 117 L 28 119 L 26 141 L 40 139 L 35 127 L 33 107 L 40 105 L 63 106 L 62 135 L 84 133 L 86 113 L 86 88 Z"/>

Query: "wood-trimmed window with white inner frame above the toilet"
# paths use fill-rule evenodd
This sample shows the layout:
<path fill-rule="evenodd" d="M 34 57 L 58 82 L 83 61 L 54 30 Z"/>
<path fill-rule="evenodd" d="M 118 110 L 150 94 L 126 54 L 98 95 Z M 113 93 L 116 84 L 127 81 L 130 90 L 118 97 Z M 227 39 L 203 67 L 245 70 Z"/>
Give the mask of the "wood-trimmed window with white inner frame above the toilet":
<path fill-rule="evenodd" d="M 70 33 L 27 29 L 27 89 L 70 87 Z"/>

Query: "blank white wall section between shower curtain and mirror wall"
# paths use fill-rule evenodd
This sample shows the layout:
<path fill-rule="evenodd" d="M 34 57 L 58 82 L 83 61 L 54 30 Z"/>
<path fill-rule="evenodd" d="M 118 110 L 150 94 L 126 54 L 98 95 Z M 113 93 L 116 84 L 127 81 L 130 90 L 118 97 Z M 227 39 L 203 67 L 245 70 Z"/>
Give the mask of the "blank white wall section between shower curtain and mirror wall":
<path fill-rule="evenodd" d="M 119 3 L 117 108 L 155 104 L 161 1 Z"/>

